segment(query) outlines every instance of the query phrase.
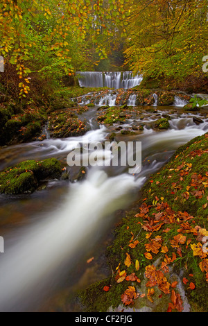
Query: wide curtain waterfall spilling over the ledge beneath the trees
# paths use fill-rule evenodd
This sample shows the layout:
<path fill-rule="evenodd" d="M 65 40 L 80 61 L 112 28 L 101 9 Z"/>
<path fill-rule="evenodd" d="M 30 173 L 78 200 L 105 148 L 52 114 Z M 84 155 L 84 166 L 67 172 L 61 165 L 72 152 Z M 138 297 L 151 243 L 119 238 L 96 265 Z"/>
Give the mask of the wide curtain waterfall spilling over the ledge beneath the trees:
<path fill-rule="evenodd" d="M 141 83 L 142 76 L 134 76 L 132 71 L 78 71 L 80 87 L 132 88 Z"/>

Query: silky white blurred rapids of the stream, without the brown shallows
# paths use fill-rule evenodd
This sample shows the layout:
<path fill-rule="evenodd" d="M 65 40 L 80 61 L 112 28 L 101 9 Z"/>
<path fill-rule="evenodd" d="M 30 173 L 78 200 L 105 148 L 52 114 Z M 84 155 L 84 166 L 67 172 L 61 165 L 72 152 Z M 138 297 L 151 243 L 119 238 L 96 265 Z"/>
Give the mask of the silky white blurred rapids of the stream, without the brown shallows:
<path fill-rule="evenodd" d="M 180 127 L 182 120 L 184 128 Z M 64 200 L 53 212 L 36 216 L 18 232 L 8 233 L 5 253 L 1 255 L 0 310 L 36 309 L 53 286 L 73 268 L 75 257 L 96 243 L 106 225 L 112 223 L 109 216 L 116 209 L 127 207 L 146 176 L 164 164 L 166 152 L 173 153 L 178 146 L 206 130 L 207 122 L 196 126 L 189 117 L 173 119 L 171 129 L 164 132 L 145 129 L 136 139 L 141 141 L 143 160 L 146 157 L 153 160 L 143 167 L 137 178 L 124 173 L 121 167 L 119 174 L 112 177 L 104 168 L 92 167 L 86 180 L 69 185 Z M 107 130 L 100 128 L 87 132 L 84 139 L 103 141 L 106 135 Z M 40 160 L 53 155 L 64 157 L 80 141 L 83 137 L 46 139 L 42 146 L 36 141 L 2 148 L 2 151 L 6 156 L 13 154 L 13 162 L 17 161 L 15 153 L 21 160 L 34 157 Z"/>

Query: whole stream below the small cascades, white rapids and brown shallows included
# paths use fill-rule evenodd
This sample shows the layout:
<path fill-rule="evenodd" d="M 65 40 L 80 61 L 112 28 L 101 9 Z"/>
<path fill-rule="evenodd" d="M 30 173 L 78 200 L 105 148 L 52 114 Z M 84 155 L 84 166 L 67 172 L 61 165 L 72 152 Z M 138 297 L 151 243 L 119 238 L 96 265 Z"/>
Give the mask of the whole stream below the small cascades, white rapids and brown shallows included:
<path fill-rule="evenodd" d="M 168 110 L 158 108 L 157 113 Z M 80 142 L 105 141 L 110 129 L 94 123 L 96 108 L 85 114 L 92 130 L 83 137 L 51 139 L 48 135 L 41 142 L 0 148 L 0 169 L 47 157 L 57 157 L 64 166 L 67 155 Z M 158 119 L 144 115 L 142 121 L 126 121 L 123 128 L 135 121 L 150 123 Z M 177 111 L 171 117 L 168 130 L 156 132 L 145 127 L 136 135 L 121 136 L 125 141 L 141 141 L 142 169 L 138 174 L 128 174 L 126 166 L 92 166 L 82 182 L 53 180 L 46 189 L 33 194 L 0 195 L 0 230 L 5 239 L 5 252 L 0 257 L 1 311 L 44 310 L 45 302 L 64 288 L 64 282 L 70 279 L 70 289 L 78 286 L 88 271 L 86 259 L 96 257 L 99 246 L 105 248 L 103 239 L 116 221 L 114 212 L 132 203 L 150 173 L 157 171 L 180 145 L 208 130 L 207 119 L 196 125 L 191 114 Z M 87 280 L 82 286 L 91 282 Z"/>

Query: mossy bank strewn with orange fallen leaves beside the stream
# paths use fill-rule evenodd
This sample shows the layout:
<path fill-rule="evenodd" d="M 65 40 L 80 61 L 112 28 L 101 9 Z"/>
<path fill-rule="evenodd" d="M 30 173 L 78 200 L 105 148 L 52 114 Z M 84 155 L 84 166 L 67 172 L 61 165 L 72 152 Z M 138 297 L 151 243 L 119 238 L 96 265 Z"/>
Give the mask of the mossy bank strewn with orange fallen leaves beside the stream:
<path fill-rule="evenodd" d="M 112 275 L 80 294 L 86 311 L 207 311 L 207 153 L 206 133 L 146 182 L 107 248 Z"/>

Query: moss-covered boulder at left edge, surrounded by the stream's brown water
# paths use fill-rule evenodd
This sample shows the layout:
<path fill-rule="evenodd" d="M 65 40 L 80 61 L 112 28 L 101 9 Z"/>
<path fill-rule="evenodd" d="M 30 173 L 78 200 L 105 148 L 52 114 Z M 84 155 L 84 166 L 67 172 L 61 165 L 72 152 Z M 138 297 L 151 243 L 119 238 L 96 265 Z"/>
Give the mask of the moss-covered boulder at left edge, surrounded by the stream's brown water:
<path fill-rule="evenodd" d="M 0 193 L 32 192 L 37 189 L 41 180 L 60 178 L 61 173 L 60 162 L 55 158 L 24 161 L 0 173 Z"/>

